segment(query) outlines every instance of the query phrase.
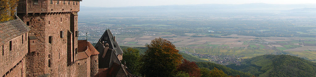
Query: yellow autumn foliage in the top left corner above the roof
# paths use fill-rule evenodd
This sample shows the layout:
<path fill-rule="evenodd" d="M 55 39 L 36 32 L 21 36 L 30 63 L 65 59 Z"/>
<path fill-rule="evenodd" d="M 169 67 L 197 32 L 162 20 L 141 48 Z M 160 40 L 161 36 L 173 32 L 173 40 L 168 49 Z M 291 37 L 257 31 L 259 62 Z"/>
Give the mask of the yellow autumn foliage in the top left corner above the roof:
<path fill-rule="evenodd" d="M 13 20 L 15 18 L 15 7 L 19 0 L 0 0 L 0 22 Z"/>

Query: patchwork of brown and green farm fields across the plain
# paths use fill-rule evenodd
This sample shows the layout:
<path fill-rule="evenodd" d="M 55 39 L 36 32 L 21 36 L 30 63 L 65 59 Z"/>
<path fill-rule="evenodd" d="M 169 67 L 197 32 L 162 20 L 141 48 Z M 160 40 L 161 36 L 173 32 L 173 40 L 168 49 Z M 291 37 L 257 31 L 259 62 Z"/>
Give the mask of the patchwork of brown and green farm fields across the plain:
<path fill-rule="evenodd" d="M 123 46 L 144 47 L 145 44 L 150 44 L 154 38 L 167 37 L 164 39 L 173 42 L 180 51 L 210 55 L 242 55 L 245 56 L 243 58 L 251 58 L 264 54 L 288 54 L 304 57 L 316 62 L 315 41 L 300 41 L 293 40 L 292 38 L 276 37 L 253 39 L 256 37 L 238 35 L 231 35 L 238 36 L 238 38 L 192 37 L 194 35 L 197 35 L 197 33 L 185 33 L 185 35 L 161 33 L 156 36 L 117 36 L 120 38 L 117 41 Z M 300 38 L 302 39 L 303 37 Z"/>

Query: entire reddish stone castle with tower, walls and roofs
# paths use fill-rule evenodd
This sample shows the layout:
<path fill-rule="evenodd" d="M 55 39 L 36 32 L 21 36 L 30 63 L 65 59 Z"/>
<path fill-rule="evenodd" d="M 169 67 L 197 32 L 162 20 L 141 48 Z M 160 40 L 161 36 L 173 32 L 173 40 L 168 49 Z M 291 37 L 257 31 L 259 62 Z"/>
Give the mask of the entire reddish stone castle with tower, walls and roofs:
<path fill-rule="evenodd" d="M 95 47 L 78 40 L 80 1 L 20 0 L 16 19 L 0 23 L 0 76 L 138 77 L 110 30 Z"/>

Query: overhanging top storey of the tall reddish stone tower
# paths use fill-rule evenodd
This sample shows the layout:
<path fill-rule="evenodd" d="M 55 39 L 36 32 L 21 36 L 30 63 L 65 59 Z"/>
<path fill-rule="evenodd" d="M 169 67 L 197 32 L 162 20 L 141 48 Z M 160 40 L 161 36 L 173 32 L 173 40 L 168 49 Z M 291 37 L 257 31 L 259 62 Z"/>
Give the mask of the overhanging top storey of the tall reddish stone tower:
<path fill-rule="evenodd" d="M 78 12 L 80 0 L 20 0 L 17 13 Z"/>

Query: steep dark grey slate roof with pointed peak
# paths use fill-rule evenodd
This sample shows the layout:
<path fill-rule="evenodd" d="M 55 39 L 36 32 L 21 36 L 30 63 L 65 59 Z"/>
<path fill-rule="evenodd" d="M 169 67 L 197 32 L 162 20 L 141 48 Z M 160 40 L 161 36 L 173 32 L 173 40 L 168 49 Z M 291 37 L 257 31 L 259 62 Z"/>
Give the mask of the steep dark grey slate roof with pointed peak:
<path fill-rule="evenodd" d="M 123 50 L 119 47 L 119 44 L 115 41 L 114 36 L 109 29 L 107 29 L 100 38 L 99 42 L 102 41 L 104 41 L 104 44 L 109 44 L 109 48 L 113 49 L 116 55 L 123 53 Z"/>

